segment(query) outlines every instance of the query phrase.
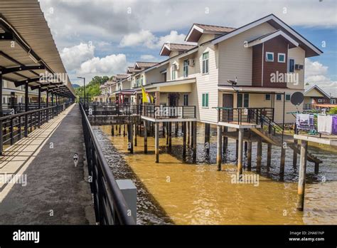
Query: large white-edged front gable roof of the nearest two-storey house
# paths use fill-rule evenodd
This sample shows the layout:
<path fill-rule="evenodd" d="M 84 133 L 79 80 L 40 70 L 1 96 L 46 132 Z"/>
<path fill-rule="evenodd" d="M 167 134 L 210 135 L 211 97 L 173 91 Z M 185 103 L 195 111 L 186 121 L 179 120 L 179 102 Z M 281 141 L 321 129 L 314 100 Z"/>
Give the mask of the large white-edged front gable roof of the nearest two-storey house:
<path fill-rule="evenodd" d="M 246 24 L 245 26 L 241 26 L 238 29 L 235 29 L 229 33 L 225 33 L 222 36 L 218 38 L 214 38 L 212 43 L 217 44 L 221 41 L 225 41 L 226 39 L 236 36 L 239 33 L 242 33 L 244 31 L 247 31 L 248 29 L 252 29 L 255 26 L 258 26 L 260 24 L 263 24 L 267 22 L 271 26 L 273 26 L 275 29 L 281 29 L 284 31 L 284 33 L 287 33 L 288 36 L 293 38 L 296 42 L 299 43 L 299 46 L 303 48 L 306 51 L 306 58 L 311 56 L 317 56 L 323 53 L 319 48 L 314 46 L 310 41 L 306 40 L 303 36 L 301 36 L 299 33 L 297 33 L 294 29 L 292 29 L 289 25 L 285 24 L 284 21 L 277 18 L 277 16 L 274 16 L 274 14 L 270 14 L 268 16 L 264 16 L 261 19 L 258 19 L 257 21 L 253 21 L 250 24 Z"/>

